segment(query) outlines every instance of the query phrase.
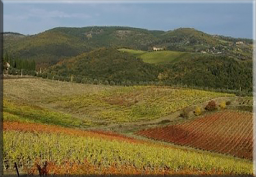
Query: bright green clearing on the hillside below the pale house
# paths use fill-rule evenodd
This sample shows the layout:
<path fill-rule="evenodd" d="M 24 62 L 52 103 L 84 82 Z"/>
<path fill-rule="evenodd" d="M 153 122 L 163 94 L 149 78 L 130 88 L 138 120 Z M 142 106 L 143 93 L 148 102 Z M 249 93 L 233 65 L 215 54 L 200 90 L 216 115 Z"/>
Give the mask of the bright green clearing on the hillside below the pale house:
<path fill-rule="evenodd" d="M 119 51 L 124 51 L 131 53 L 137 57 L 140 57 L 145 63 L 153 64 L 164 64 L 173 63 L 181 59 L 189 59 L 193 56 L 203 55 L 201 53 L 191 53 L 191 52 L 179 52 L 179 51 L 141 51 L 132 49 L 119 49 Z"/>

